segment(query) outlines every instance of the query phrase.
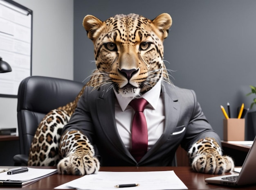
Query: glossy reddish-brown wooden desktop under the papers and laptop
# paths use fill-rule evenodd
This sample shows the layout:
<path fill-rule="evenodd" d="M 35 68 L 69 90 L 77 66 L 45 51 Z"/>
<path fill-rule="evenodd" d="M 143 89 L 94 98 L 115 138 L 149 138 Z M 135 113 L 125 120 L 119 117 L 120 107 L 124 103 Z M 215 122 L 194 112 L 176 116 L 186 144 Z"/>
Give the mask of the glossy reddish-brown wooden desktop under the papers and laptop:
<path fill-rule="evenodd" d="M 54 168 L 54 167 L 41 167 L 41 168 Z M 202 174 L 195 173 L 191 170 L 190 167 L 101 167 L 101 171 L 164 171 L 164 170 L 174 170 L 176 175 L 183 181 L 183 183 L 189 189 L 230 189 L 234 190 L 234 188 L 225 187 L 225 186 L 217 186 L 210 185 L 204 182 L 204 179 L 207 177 L 213 177 L 217 175 L 210 174 Z M 230 174 L 230 173 L 226 173 Z M 57 186 L 60 186 L 63 183 L 67 183 L 68 181 L 72 181 L 74 179 L 79 178 L 79 176 L 73 175 L 59 175 L 55 174 L 50 177 L 41 179 L 36 183 L 32 183 L 31 185 L 25 186 L 22 189 L 53 189 Z M 249 189 L 256 189 L 255 186 L 249 186 Z M 248 189 L 246 188 L 246 189 Z M 244 189 L 244 188 L 236 188 L 236 189 Z"/>

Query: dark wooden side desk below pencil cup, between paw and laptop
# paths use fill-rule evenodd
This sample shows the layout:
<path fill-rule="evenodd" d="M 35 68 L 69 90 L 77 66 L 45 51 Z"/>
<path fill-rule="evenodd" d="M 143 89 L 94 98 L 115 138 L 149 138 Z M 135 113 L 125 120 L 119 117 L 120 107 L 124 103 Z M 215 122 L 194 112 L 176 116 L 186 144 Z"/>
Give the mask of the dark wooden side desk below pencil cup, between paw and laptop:
<path fill-rule="evenodd" d="M 222 141 L 221 145 L 224 155 L 231 156 L 234 159 L 236 166 L 243 165 L 247 153 L 251 148 L 250 146 L 244 144 L 232 144 L 227 141 Z"/>

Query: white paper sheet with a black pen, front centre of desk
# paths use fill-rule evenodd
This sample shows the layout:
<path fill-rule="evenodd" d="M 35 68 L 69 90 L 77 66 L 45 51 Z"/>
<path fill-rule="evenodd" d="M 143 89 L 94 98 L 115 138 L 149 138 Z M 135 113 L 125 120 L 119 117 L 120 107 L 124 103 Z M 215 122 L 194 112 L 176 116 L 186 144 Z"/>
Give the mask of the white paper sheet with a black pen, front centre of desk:
<path fill-rule="evenodd" d="M 85 175 L 55 189 L 76 188 L 85 190 L 111 190 L 115 185 L 139 183 L 129 190 L 169 190 L 188 189 L 174 171 L 153 172 L 98 172 Z"/>

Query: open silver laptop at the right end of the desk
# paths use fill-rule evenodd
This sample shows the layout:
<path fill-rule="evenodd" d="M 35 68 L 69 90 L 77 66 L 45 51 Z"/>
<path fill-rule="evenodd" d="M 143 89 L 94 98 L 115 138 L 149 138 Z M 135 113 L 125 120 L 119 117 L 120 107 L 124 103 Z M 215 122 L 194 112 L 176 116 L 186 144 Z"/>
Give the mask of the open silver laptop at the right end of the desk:
<path fill-rule="evenodd" d="M 222 184 L 227 186 L 243 186 L 256 183 L 256 137 L 249 150 L 239 174 L 220 175 L 205 179 L 207 183 Z"/>

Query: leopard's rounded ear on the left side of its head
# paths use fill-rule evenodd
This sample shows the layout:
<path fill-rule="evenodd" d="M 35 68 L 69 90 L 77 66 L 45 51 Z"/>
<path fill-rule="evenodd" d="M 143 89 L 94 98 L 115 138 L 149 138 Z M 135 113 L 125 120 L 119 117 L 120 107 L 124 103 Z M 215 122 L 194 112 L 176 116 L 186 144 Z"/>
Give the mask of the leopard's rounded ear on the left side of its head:
<path fill-rule="evenodd" d="M 102 21 L 93 15 L 86 15 L 83 19 L 83 27 L 87 32 L 88 38 L 92 41 L 95 39 L 95 33 L 102 26 Z"/>

